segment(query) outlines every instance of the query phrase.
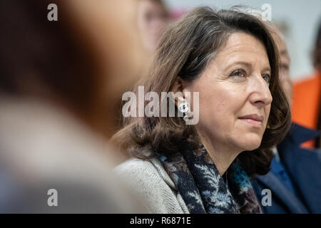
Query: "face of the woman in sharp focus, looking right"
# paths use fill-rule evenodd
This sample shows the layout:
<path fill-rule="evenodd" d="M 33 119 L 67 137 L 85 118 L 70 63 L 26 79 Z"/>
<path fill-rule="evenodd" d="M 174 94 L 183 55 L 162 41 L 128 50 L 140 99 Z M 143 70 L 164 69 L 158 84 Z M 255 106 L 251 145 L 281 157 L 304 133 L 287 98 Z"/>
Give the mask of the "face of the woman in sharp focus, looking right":
<path fill-rule="evenodd" d="M 200 78 L 184 89 L 200 95 L 198 132 L 218 148 L 258 148 L 272 103 L 270 74 L 263 43 L 246 33 L 231 34 Z"/>

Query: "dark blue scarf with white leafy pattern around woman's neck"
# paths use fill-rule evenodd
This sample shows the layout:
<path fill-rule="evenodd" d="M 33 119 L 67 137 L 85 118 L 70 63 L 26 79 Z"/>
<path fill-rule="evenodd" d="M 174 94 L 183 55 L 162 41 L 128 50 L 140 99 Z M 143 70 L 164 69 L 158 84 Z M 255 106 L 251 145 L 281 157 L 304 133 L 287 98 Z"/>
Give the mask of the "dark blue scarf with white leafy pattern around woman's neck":
<path fill-rule="evenodd" d="M 190 213 L 262 213 L 246 172 L 236 159 L 225 172 L 218 172 L 205 147 L 158 155 L 183 197 Z"/>

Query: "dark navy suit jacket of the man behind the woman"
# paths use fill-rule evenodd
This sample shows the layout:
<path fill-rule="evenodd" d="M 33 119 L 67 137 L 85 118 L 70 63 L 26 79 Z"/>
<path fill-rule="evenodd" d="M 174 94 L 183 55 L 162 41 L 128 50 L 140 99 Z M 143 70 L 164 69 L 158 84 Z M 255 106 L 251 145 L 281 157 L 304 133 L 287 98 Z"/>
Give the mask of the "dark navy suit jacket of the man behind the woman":
<path fill-rule="evenodd" d="M 270 171 L 252 180 L 253 189 L 264 213 L 321 213 L 321 150 L 300 147 L 302 142 L 319 135 L 315 130 L 295 123 L 277 146 L 280 161 L 284 165 L 297 195 L 294 195 Z M 272 192 L 272 205 L 263 206 L 262 190 Z"/>

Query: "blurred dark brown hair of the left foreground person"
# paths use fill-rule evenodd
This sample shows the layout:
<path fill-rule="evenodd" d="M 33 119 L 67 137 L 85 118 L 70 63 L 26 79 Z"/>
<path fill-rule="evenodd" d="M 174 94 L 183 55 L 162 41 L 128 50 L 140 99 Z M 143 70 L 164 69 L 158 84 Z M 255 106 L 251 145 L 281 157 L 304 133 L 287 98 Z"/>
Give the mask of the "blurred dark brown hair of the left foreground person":
<path fill-rule="evenodd" d="M 58 21 L 47 19 L 51 3 Z M 63 1 L 1 0 L 0 15 L 1 93 L 58 100 L 88 118 L 101 78 Z"/>

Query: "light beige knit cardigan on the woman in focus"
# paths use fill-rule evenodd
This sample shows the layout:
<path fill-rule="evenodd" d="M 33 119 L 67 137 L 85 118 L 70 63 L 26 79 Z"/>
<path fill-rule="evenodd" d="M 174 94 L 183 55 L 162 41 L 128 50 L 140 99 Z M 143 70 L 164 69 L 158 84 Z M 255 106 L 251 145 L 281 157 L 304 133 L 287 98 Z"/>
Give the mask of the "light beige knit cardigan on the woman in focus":
<path fill-rule="evenodd" d="M 183 198 L 157 158 L 132 158 L 116 167 L 148 213 L 189 214 Z"/>

